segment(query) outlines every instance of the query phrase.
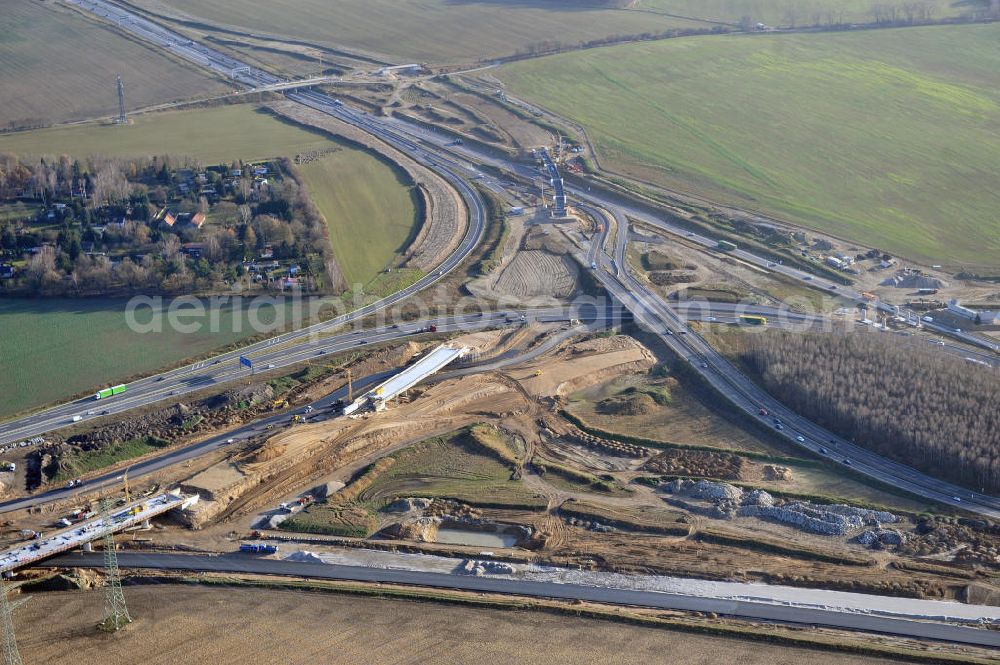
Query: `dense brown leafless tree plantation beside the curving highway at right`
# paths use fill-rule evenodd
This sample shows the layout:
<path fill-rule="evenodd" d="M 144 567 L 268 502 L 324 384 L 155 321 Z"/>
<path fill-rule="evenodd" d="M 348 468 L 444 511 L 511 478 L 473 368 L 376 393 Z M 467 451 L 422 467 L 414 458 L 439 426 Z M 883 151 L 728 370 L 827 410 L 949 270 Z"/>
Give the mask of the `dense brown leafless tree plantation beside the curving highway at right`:
<path fill-rule="evenodd" d="M 745 335 L 739 354 L 796 412 L 881 455 L 1000 491 L 1000 373 L 879 333 Z"/>

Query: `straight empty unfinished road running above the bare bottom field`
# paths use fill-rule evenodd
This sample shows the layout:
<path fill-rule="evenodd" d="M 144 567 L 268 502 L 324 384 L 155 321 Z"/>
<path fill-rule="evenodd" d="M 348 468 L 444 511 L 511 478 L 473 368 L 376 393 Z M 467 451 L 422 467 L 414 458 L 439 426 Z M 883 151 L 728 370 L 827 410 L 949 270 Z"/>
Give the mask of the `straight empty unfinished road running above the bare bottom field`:
<path fill-rule="evenodd" d="M 390 568 L 366 568 L 362 566 L 283 561 L 246 555 L 205 556 L 122 552 L 118 555 L 118 564 L 122 568 L 132 569 L 280 575 L 312 579 L 404 584 L 439 589 L 459 589 L 476 593 L 500 593 L 533 598 L 582 600 L 611 605 L 653 607 L 686 612 L 715 612 L 726 616 L 757 621 L 830 626 L 865 632 L 903 635 L 921 640 L 938 640 L 981 647 L 1000 647 L 1000 633 L 987 629 L 869 614 L 774 605 L 751 600 L 720 600 L 655 591 L 635 591 L 632 589 L 584 586 L 580 584 L 512 580 L 488 576 L 448 575 L 444 573 Z M 53 566 L 62 568 L 78 568 L 81 566 L 100 568 L 104 565 L 104 559 L 101 554 L 70 554 L 46 561 L 43 565 L 45 567 Z"/>

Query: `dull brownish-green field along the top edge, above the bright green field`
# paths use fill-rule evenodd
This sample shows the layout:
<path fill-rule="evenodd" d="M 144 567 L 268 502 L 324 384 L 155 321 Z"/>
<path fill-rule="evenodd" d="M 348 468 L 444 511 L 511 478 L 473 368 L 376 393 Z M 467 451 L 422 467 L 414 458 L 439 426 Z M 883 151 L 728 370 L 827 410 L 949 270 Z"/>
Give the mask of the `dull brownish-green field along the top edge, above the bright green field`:
<path fill-rule="evenodd" d="M 290 36 L 384 54 L 396 62 L 470 62 L 526 52 L 532 44 L 578 44 L 610 35 L 710 28 L 708 23 L 607 9 L 613 0 L 138 0 L 237 30 Z"/>

